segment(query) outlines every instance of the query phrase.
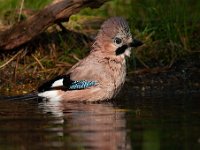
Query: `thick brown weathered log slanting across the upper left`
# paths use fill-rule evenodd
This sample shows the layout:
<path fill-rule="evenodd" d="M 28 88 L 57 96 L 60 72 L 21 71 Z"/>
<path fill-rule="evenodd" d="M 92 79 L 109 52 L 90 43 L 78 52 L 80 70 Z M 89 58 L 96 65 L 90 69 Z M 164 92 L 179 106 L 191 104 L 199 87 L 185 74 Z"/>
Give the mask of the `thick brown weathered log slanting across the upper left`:
<path fill-rule="evenodd" d="M 8 51 L 27 43 L 55 22 L 67 20 L 82 8 L 100 7 L 108 0 L 61 0 L 0 33 L 0 51 Z"/>

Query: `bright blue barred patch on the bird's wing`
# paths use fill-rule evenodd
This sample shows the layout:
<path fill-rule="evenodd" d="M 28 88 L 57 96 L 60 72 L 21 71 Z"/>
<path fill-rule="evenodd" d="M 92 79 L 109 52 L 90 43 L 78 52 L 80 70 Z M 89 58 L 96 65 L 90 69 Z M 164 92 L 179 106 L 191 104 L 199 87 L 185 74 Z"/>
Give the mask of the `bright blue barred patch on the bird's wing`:
<path fill-rule="evenodd" d="M 85 89 L 85 88 L 95 86 L 95 85 L 97 85 L 96 81 L 86 81 L 86 80 L 74 81 L 69 86 L 69 89 L 70 90 L 80 90 L 80 89 Z"/>

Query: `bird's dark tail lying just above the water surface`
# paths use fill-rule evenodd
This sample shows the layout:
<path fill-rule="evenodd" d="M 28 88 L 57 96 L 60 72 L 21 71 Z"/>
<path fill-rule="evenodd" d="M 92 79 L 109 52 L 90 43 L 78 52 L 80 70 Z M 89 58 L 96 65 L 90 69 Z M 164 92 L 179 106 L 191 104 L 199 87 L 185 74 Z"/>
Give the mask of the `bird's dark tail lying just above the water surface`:
<path fill-rule="evenodd" d="M 25 94 L 25 95 L 17 95 L 17 96 L 1 96 L 0 100 L 37 100 L 41 99 L 36 92 Z"/>

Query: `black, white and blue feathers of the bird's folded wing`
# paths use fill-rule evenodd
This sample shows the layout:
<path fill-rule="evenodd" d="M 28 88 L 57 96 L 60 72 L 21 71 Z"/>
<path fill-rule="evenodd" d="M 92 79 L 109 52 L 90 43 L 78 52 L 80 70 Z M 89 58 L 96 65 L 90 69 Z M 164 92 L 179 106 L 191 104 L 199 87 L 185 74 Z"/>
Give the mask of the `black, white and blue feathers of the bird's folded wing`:
<path fill-rule="evenodd" d="M 91 86 L 96 86 L 97 81 L 89 80 L 71 80 L 70 74 L 62 75 L 47 81 L 38 88 L 38 92 L 45 92 L 50 90 L 82 90 Z"/>

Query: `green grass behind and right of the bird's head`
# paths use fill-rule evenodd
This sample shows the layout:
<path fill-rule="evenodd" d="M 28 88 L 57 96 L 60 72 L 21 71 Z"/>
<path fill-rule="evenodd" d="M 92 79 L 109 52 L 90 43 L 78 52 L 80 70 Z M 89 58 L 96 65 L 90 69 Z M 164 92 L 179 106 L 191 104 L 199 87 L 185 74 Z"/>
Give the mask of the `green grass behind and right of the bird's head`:
<path fill-rule="evenodd" d="M 83 15 L 124 16 L 132 33 L 145 42 L 135 57 L 149 67 L 171 66 L 187 55 L 199 54 L 200 1 L 113 0 Z"/>

